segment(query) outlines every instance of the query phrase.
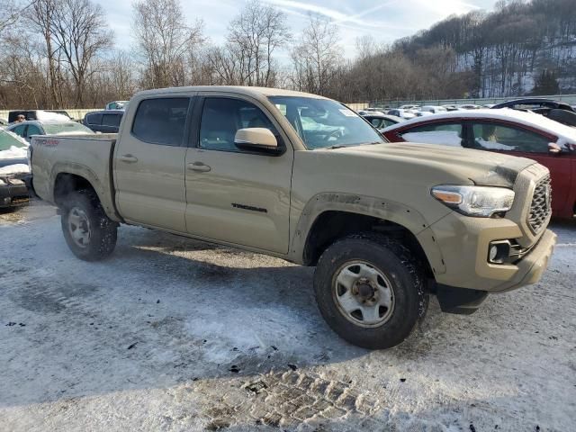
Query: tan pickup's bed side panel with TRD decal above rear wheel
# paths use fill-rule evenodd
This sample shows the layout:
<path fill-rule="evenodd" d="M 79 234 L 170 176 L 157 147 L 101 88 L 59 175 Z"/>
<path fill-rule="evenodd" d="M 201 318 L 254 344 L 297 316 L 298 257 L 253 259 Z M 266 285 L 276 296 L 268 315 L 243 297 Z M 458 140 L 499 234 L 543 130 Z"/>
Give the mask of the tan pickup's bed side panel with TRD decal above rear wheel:
<path fill-rule="evenodd" d="M 109 216 L 113 202 L 112 152 L 117 134 L 38 135 L 31 139 L 32 184 L 42 200 L 56 203 L 57 179 L 79 175 L 94 187 Z"/>

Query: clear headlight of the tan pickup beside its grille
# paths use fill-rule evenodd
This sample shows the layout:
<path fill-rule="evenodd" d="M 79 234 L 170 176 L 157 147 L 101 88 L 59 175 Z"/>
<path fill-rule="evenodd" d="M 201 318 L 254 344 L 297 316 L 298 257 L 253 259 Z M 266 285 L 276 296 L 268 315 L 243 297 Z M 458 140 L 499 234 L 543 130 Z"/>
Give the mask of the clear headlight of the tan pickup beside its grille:
<path fill-rule="evenodd" d="M 455 211 L 479 218 L 509 211 L 514 202 L 514 191 L 505 187 L 446 184 L 433 187 L 432 196 Z"/>

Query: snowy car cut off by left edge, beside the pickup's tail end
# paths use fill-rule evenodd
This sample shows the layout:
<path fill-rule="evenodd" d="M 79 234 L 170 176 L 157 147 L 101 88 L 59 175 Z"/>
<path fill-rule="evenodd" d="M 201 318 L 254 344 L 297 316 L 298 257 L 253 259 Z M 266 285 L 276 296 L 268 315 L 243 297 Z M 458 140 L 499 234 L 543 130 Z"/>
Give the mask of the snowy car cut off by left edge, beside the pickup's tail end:
<path fill-rule="evenodd" d="M 0 130 L 0 210 L 15 209 L 29 200 L 28 144 L 8 130 Z"/>

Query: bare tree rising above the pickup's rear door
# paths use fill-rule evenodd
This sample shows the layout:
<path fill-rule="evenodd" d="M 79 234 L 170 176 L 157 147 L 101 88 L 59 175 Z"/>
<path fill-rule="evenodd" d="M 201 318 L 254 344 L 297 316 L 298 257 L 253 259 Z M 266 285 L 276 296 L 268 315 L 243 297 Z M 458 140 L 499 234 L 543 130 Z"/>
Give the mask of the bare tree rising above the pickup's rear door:
<path fill-rule="evenodd" d="M 142 84 L 184 85 L 186 52 L 202 43 L 202 21 L 185 23 L 179 0 L 140 0 L 133 8 L 138 54 L 145 65 Z"/>

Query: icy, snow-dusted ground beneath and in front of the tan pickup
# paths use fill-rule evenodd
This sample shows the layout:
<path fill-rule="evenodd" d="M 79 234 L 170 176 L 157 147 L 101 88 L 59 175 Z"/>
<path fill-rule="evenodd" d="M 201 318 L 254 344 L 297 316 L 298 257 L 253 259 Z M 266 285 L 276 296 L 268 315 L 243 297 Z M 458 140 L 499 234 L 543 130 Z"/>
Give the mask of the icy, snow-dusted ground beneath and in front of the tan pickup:
<path fill-rule="evenodd" d="M 541 283 L 401 347 L 332 333 L 312 269 L 121 227 L 73 257 L 52 207 L 0 215 L 0 430 L 576 430 L 576 225 Z"/>

